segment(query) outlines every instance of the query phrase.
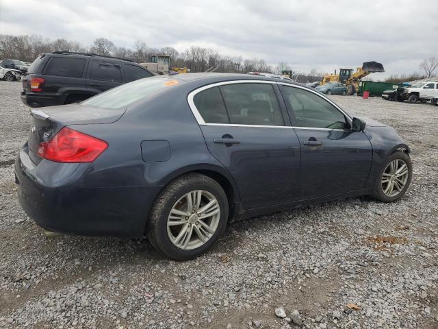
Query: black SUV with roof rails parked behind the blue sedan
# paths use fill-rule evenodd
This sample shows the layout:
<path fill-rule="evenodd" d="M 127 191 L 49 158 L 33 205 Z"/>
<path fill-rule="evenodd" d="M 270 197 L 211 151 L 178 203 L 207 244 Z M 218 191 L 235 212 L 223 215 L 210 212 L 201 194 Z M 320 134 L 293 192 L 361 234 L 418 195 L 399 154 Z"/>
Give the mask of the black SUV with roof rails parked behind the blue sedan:
<path fill-rule="evenodd" d="M 110 88 L 153 73 L 143 66 L 94 53 L 43 53 L 23 77 L 21 101 L 32 108 L 83 101 Z"/>

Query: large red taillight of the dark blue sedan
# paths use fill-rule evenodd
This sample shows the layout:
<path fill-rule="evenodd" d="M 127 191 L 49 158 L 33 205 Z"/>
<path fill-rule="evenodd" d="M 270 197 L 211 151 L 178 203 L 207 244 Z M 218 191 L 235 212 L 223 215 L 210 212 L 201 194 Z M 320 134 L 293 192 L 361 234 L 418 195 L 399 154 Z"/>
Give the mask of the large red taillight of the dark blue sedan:
<path fill-rule="evenodd" d="M 93 162 L 107 147 L 99 138 L 64 127 L 50 141 L 40 143 L 38 156 L 56 162 Z"/>

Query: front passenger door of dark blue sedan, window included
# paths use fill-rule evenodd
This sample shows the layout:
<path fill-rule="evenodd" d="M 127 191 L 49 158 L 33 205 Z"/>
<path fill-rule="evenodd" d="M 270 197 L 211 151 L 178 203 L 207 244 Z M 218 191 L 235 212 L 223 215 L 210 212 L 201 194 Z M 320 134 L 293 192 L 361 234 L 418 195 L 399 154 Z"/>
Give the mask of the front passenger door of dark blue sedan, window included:
<path fill-rule="evenodd" d="M 368 179 L 372 145 L 329 99 L 307 88 L 281 86 L 301 146 L 303 199 L 361 190 Z"/>

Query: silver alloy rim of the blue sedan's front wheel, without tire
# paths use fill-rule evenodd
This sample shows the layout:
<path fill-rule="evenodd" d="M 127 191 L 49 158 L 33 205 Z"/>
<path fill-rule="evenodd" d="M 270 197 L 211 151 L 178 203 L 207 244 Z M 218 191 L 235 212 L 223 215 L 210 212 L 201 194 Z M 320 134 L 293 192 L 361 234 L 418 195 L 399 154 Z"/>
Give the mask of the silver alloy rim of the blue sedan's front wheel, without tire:
<path fill-rule="evenodd" d="M 388 197 L 395 197 L 406 186 L 409 168 L 404 160 L 396 159 L 387 165 L 382 175 L 382 190 Z"/>

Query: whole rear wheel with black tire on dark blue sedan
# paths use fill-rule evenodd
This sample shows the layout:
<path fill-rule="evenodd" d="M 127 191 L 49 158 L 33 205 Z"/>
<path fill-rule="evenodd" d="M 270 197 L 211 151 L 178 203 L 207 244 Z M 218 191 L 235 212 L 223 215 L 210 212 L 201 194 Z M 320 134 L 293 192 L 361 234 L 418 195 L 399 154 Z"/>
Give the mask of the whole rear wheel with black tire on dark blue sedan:
<path fill-rule="evenodd" d="M 200 202 L 194 202 L 197 199 L 194 193 L 200 191 Z M 190 197 L 193 204 L 192 212 L 188 211 L 188 195 L 195 195 L 193 198 Z M 217 207 L 213 203 L 216 208 L 209 213 L 217 209 L 219 213 L 207 217 L 206 220 L 203 219 L 201 223 L 201 216 L 205 214 L 198 213 L 196 210 L 203 210 L 203 207 L 205 208 L 214 200 L 217 202 Z M 198 208 L 196 208 L 196 203 L 198 203 Z M 180 212 L 186 215 L 181 215 Z M 205 175 L 190 173 L 170 182 L 157 197 L 151 210 L 146 235 L 151 244 L 169 258 L 189 260 L 206 252 L 218 240 L 227 226 L 228 212 L 227 195 L 220 184 Z M 171 214 L 173 214 L 174 221 L 170 218 Z M 187 216 L 189 214 L 192 215 Z M 177 222 L 183 222 L 183 224 L 175 224 Z M 210 231 L 205 229 L 205 225 L 209 226 Z M 198 232 L 204 236 L 204 239 L 207 239 L 201 241 Z M 182 237 L 180 234 L 183 234 Z"/>

